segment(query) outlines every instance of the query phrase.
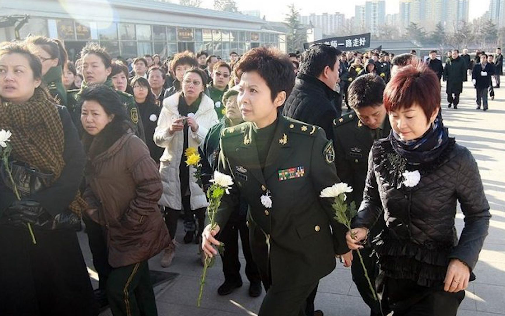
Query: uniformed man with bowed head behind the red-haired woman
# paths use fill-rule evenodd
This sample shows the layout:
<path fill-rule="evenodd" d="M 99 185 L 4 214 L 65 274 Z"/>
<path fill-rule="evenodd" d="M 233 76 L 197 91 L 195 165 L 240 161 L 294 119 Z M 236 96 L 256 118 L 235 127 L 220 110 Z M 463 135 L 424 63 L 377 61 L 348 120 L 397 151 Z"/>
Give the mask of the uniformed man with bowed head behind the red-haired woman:
<path fill-rule="evenodd" d="M 375 74 L 367 74 L 353 81 L 348 90 L 349 106 L 354 110 L 333 121 L 335 165 L 340 179 L 354 188 L 348 195 L 359 207 L 367 178 L 368 155 L 374 141 L 388 136 L 391 126 L 382 102 L 385 83 Z M 379 219 L 371 230 L 371 239 L 384 228 Z M 361 250 L 368 274 L 374 283 L 378 273 L 377 257 L 372 254 L 370 240 Z M 375 301 L 364 277 L 361 264 L 352 264 L 352 280 L 365 303 L 370 306 L 371 316 L 381 315 L 379 302 Z M 387 314 L 387 313 L 384 313 Z"/>

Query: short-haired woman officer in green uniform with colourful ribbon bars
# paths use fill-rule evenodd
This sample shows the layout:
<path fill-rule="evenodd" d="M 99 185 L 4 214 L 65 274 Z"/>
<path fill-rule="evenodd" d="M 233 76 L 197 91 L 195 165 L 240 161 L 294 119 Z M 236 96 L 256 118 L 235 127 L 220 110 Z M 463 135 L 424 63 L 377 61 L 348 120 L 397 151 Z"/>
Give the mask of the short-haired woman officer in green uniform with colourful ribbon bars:
<path fill-rule="evenodd" d="M 217 254 L 214 236 L 240 195 L 249 205 L 252 257 L 267 290 L 258 315 L 305 315 L 306 298 L 335 268 L 335 255 L 343 255 L 347 266 L 351 260 L 332 200 L 319 197 L 340 182 L 335 152 L 324 130 L 279 114 L 294 85 L 286 55 L 256 48 L 235 67 L 245 122 L 223 130 L 218 163 L 234 185 L 221 201 L 218 227 L 205 229 L 202 248 L 209 256 Z"/>

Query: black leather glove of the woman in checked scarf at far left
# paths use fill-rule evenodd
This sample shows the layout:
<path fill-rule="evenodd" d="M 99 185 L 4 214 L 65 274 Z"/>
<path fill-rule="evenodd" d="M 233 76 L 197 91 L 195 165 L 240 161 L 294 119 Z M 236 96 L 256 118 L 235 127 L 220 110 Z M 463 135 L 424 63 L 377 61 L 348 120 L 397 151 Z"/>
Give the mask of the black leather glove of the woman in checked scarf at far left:
<path fill-rule="evenodd" d="M 27 223 L 44 227 L 51 225 L 51 215 L 34 200 L 14 201 L 7 208 L 4 215 L 4 220 L 16 226 L 26 226 Z"/>

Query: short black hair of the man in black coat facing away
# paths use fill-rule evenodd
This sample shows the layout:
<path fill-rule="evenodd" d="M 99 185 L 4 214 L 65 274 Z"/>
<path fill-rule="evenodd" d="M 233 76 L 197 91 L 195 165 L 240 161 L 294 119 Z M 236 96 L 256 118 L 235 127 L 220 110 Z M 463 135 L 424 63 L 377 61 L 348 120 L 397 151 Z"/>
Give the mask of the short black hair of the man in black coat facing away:
<path fill-rule="evenodd" d="M 334 70 L 335 62 L 340 54 L 342 52 L 333 46 L 327 44 L 313 45 L 302 54 L 299 72 L 318 77 L 323 73 L 326 66 Z"/>

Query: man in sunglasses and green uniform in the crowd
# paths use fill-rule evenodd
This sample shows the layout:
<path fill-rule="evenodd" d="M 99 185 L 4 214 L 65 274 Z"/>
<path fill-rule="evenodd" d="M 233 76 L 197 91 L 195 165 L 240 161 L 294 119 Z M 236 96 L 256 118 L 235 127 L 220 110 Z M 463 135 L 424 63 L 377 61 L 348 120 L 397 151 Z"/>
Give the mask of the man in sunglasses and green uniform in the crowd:
<path fill-rule="evenodd" d="M 207 95 L 214 101 L 214 109 L 219 119 L 225 114 L 225 105 L 222 103 L 223 95 L 228 91 L 231 67 L 225 62 L 217 62 L 212 71 L 212 81 L 207 88 Z"/>

